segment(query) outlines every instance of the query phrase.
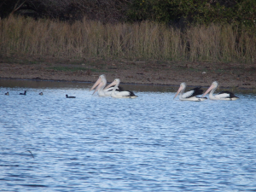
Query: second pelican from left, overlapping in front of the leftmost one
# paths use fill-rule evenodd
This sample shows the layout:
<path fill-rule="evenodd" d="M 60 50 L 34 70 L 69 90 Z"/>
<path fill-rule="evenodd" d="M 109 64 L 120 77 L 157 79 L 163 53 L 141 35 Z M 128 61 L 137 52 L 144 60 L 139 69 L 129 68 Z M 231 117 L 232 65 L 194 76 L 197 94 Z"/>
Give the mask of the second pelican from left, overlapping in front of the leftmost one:
<path fill-rule="evenodd" d="M 105 88 L 105 89 L 108 89 L 109 87 L 114 85 L 113 90 L 111 91 L 112 97 L 115 97 L 115 98 L 136 98 L 137 97 L 130 90 L 115 91 L 118 88 L 119 83 L 120 83 L 120 79 L 114 79 L 113 82 L 111 84 L 108 84 L 108 86 Z"/>

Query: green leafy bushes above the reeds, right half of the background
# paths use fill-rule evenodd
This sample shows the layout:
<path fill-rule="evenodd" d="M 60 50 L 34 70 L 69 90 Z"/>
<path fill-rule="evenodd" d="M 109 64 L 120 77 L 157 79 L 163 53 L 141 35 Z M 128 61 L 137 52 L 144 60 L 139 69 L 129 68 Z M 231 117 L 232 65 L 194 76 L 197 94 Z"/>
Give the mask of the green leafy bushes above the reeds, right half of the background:
<path fill-rule="evenodd" d="M 256 1 L 224 0 L 134 0 L 128 20 L 154 20 L 168 24 L 236 24 L 256 26 Z"/>

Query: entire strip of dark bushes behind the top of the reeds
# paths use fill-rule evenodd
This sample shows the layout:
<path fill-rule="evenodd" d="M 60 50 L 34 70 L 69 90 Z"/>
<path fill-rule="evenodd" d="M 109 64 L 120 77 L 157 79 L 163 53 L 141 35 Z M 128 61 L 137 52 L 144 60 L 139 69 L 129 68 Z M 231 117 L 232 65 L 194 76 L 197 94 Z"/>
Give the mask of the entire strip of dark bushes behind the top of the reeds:
<path fill-rule="evenodd" d="M 256 26 L 255 0 L 2 0 L 0 16 L 60 20 L 153 20 L 177 26 L 212 23 Z"/>

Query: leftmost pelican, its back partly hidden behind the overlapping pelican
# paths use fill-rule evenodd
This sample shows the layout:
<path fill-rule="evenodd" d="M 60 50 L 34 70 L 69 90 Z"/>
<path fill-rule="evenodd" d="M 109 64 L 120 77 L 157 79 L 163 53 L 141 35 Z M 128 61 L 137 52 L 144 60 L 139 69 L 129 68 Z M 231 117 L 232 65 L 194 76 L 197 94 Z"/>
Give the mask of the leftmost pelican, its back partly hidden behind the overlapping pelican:
<path fill-rule="evenodd" d="M 96 88 L 96 90 L 93 92 L 93 94 L 95 94 L 96 91 L 98 91 L 98 95 L 99 96 L 111 96 L 111 93 L 112 93 L 112 90 L 113 90 L 113 87 L 109 87 L 108 89 L 104 89 L 104 87 L 106 86 L 107 84 L 107 79 L 106 79 L 106 76 L 104 74 L 102 74 L 99 79 L 97 79 L 96 83 L 93 84 L 93 86 L 90 88 L 90 90 L 93 90 Z M 121 87 L 118 87 L 116 89 L 116 91 L 121 91 L 123 90 Z M 92 94 L 92 95 L 93 95 Z"/>

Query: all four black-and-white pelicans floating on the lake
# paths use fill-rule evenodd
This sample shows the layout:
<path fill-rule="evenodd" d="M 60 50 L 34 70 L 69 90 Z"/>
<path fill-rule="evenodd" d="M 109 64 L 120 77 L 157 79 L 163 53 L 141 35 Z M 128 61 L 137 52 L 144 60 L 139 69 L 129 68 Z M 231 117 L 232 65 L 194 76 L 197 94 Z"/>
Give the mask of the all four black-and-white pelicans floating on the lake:
<path fill-rule="evenodd" d="M 97 79 L 96 83 L 93 84 L 90 90 L 94 90 L 93 94 L 98 91 L 99 96 L 112 96 L 115 98 L 136 98 L 137 96 L 134 95 L 134 93 L 130 90 L 123 90 L 119 86 L 120 79 L 114 79 L 111 84 L 107 85 L 107 79 L 104 74 L 102 74 L 99 79 Z M 207 93 L 209 93 L 209 99 L 211 100 L 228 100 L 228 101 L 234 101 L 238 99 L 239 97 L 235 96 L 230 91 L 224 90 L 219 92 L 216 95 L 213 95 L 214 91 L 218 88 L 218 82 L 214 81 L 212 85 L 209 87 L 209 89 L 203 94 L 203 90 L 201 90 L 201 87 L 195 87 L 193 90 L 189 90 L 184 93 L 184 90 L 186 89 L 186 83 L 180 84 L 179 89 L 177 90 L 176 95 L 179 95 L 179 99 L 181 101 L 192 101 L 192 102 L 201 102 L 207 100 Z M 93 95 L 92 94 L 92 95 Z M 202 95 L 202 96 L 201 96 Z"/>

